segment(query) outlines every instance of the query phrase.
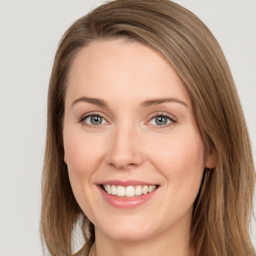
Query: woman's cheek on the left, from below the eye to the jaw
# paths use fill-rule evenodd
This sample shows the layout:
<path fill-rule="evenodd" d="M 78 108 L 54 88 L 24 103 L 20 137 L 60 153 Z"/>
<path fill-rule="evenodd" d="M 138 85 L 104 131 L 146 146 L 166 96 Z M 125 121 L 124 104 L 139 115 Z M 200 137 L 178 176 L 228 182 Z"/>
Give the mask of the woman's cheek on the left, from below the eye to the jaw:
<path fill-rule="evenodd" d="M 64 126 L 63 144 L 69 181 L 76 201 L 83 211 L 89 209 L 88 212 L 92 212 L 93 204 L 91 180 L 98 167 L 102 151 L 96 146 L 97 143 L 93 142 L 95 141 L 91 141 L 89 136 L 84 136 L 82 131 L 77 132 L 72 126 Z"/>

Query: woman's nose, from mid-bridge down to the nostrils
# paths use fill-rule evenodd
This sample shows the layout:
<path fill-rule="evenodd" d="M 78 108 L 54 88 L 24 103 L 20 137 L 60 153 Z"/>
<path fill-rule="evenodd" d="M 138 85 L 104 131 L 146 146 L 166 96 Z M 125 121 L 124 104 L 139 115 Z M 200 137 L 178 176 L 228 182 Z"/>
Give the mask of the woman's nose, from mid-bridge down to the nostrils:
<path fill-rule="evenodd" d="M 144 161 L 144 153 L 139 134 L 129 127 L 119 127 L 113 131 L 107 163 L 118 169 L 135 168 Z"/>

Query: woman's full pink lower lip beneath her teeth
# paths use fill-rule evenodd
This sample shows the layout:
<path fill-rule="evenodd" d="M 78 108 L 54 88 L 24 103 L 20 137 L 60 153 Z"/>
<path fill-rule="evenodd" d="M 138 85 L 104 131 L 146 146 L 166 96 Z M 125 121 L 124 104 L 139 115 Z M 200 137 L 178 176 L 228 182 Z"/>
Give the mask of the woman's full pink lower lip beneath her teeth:
<path fill-rule="evenodd" d="M 152 192 L 147 194 L 141 194 L 134 197 L 117 197 L 112 194 L 106 193 L 99 185 L 99 191 L 101 192 L 103 198 L 112 206 L 116 208 L 130 209 L 135 208 L 149 199 L 155 194 L 158 187 L 156 187 Z"/>

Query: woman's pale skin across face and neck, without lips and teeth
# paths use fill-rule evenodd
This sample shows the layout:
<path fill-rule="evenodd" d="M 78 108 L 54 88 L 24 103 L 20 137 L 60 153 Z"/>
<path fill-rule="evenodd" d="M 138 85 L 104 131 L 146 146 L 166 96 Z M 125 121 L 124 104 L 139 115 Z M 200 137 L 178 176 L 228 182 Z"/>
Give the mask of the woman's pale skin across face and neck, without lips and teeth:
<path fill-rule="evenodd" d="M 92 115 L 101 119 L 91 123 Z M 81 49 L 66 91 L 63 142 L 74 196 L 95 226 L 90 255 L 194 255 L 192 206 L 213 160 L 188 93 L 162 56 L 121 39 Z M 117 208 L 99 192 L 112 179 L 157 189 L 137 207 Z"/>

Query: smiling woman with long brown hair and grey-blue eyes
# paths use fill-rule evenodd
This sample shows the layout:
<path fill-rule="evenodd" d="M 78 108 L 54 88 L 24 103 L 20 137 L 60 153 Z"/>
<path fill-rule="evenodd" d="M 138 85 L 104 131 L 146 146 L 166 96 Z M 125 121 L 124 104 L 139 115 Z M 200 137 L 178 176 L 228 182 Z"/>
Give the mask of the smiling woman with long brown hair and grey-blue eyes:
<path fill-rule="evenodd" d="M 41 234 L 51 255 L 255 255 L 255 172 L 230 70 L 168 0 L 75 21 L 48 92 Z"/>

